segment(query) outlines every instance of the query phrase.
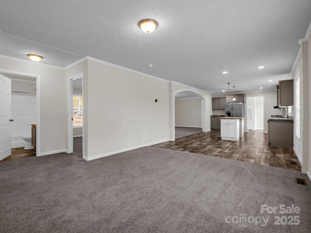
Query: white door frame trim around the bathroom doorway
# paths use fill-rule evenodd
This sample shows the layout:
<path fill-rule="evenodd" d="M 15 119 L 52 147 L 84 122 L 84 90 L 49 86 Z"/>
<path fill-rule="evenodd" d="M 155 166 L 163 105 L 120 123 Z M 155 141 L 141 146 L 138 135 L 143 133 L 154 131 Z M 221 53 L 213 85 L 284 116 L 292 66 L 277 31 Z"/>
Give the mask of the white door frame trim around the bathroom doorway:
<path fill-rule="evenodd" d="M 19 72 L 14 70 L 5 70 L 0 69 L 0 73 L 2 74 L 9 74 L 9 75 L 20 75 L 20 76 L 26 76 L 31 78 L 36 78 L 36 111 L 37 111 L 37 122 L 36 122 L 36 140 L 35 140 L 35 155 L 40 156 L 41 153 L 41 108 L 40 108 L 40 97 L 41 97 L 41 76 L 36 74 L 30 74 L 25 72 Z M 5 75 L 4 75 L 5 76 Z"/>

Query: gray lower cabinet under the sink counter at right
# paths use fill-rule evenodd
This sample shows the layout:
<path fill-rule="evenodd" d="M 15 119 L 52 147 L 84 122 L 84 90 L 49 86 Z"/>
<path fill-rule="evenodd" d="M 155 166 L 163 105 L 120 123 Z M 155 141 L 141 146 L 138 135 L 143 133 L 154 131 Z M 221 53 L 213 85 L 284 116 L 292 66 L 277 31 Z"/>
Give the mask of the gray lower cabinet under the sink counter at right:
<path fill-rule="evenodd" d="M 269 142 L 272 147 L 291 148 L 294 146 L 293 121 L 269 121 Z"/>

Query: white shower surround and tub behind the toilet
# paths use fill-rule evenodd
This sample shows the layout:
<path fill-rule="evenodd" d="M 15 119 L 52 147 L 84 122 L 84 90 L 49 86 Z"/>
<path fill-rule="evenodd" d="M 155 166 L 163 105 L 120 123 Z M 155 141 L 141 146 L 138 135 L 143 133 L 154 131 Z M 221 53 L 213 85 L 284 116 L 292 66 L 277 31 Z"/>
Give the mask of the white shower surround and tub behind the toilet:
<path fill-rule="evenodd" d="M 12 148 L 24 146 L 22 136 L 31 135 L 31 124 L 36 124 L 36 97 L 11 96 L 11 145 Z"/>

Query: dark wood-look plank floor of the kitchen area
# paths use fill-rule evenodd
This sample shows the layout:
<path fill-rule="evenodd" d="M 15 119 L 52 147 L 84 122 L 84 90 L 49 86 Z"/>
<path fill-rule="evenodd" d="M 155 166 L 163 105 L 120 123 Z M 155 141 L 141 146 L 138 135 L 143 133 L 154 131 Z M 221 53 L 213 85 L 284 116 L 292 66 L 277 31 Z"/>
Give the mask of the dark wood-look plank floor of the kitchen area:
<path fill-rule="evenodd" d="M 219 131 L 210 131 L 159 143 L 153 147 L 301 171 L 294 150 L 269 146 L 267 134 L 263 130 L 250 130 L 238 141 L 221 140 Z"/>

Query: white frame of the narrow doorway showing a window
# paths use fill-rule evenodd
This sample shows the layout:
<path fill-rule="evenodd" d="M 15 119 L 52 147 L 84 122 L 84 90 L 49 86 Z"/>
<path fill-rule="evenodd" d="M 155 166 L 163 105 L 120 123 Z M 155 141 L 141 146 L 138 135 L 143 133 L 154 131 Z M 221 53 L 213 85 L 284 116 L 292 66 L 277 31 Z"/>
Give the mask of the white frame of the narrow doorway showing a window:
<path fill-rule="evenodd" d="M 73 153 L 73 124 L 71 118 L 73 117 L 73 79 L 74 78 L 82 78 L 83 83 L 83 72 L 69 76 L 68 77 L 68 153 Z M 83 106 L 84 97 L 83 97 L 83 84 L 82 84 L 82 99 L 83 99 Z M 82 109 L 82 115 L 84 116 L 84 108 Z M 82 118 L 82 146 L 84 145 L 84 117 Z M 82 149 L 82 156 L 84 156 L 84 150 Z"/>

